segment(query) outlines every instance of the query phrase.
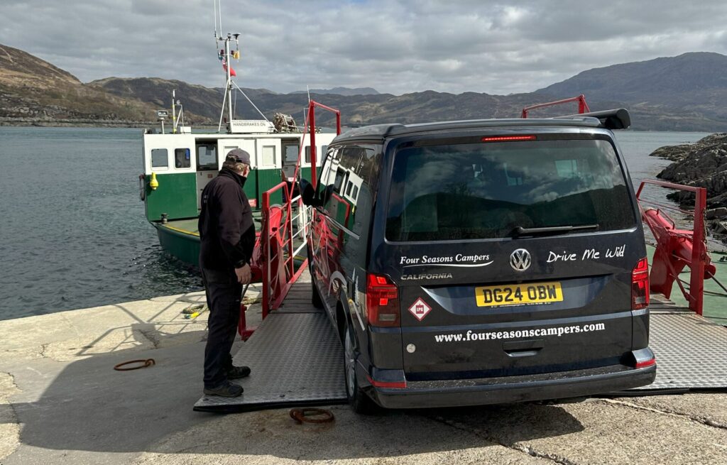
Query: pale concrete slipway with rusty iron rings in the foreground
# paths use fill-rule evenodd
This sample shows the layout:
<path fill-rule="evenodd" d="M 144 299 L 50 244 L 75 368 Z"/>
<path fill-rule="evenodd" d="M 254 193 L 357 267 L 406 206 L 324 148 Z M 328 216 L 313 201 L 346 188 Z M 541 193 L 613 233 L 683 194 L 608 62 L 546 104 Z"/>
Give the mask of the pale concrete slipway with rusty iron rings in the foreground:
<path fill-rule="evenodd" d="M 0 464 L 727 464 L 725 393 L 371 417 L 334 406 L 334 423 L 319 425 L 286 408 L 193 412 L 206 313 L 180 312 L 202 301 L 0 321 Z M 156 365 L 113 371 L 148 357 Z"/>

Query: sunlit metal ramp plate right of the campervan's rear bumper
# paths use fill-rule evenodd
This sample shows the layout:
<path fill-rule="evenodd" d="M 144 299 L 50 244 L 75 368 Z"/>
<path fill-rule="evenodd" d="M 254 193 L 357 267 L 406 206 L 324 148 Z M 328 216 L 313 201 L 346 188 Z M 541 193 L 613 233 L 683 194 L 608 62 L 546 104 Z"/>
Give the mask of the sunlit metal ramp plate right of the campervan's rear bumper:
<path fill-rule="evenodd" d="M 651 313 L 654 383 L 644 389 L 727 388 L 727 328 L 692 312 Z"/>

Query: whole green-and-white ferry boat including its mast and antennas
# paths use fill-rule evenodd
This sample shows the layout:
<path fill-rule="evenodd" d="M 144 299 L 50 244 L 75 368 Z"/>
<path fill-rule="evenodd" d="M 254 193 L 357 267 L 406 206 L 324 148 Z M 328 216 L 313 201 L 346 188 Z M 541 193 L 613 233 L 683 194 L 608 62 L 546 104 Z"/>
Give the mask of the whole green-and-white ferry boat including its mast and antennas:
<path fill-rule="evenodd" d="M 244 190 L 259 229 L 262 193 L 281 182 L 292 184 L 296 177 L 311 179 L 310 140 L 315 140 L 316 154 L 321 154 L 326 153 L 329 142 L 336 136 L 321 132 L 310 137 L 291 116 L 276 113 L 270 121 L 255 107 L 233 81 L 236 73 L 228 65 L 232 60 L 239 60 L 238 36 L 223 37 L 215 28 L 217 57 L 227 76 L 217 132 L 193 132 L 190 126 L 185 126 L 182 104 L 172 94 L 171 115 L 166 110 L 157 113 L 161 130 L 147 129 L 143 134 L 144 171 L 139 182 L 146 219 L 156 228 L 165 251 L 194 266 L 198 265 L 199 256 L 197 221 L 201 193 L 217 176 L 230 150 L 241 148 L 250 154 L 252 166 Z M 234 118 L 233 88 L 258 110 L 261 119 Z M 169 117 L 171 128 L 165 132 L 164 121 Z M 284 203 L 285 199 L 278 192 L 271 201 Z"/>

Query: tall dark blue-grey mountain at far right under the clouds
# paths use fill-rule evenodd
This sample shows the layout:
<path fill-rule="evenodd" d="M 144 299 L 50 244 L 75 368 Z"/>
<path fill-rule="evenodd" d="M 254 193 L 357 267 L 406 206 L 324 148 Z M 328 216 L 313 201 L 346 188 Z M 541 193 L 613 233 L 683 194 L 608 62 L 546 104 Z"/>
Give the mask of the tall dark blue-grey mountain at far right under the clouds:
<path fill-rule="evenodd" d="M 556 97 L 585 94 L 588 100 L 664 108 L 677 117 L 701 115 L 719 121 L 727 118 L 727 56 L 691 52 L 594 68 L 536 92 Z"/>

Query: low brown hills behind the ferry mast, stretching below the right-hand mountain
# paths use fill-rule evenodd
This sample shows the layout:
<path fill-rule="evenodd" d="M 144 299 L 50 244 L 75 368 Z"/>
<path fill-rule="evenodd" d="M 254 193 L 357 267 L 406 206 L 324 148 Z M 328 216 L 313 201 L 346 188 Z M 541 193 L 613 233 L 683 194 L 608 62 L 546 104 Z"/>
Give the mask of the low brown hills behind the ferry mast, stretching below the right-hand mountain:
<path fill-rule="evenodd" d="M 218 121 L 222 103 L 221 89 L 208 89 L 203 86 L 190 86 L 180 81 L 164 81 L 156 78 L 118 79 L 108 78 L 92 83 L 103 86 L 108 92 L 123 98 L 138 97 L 164 108 L 159 96 L 168 99 L 172 89 L 177 89 L 177 97 L 185 108 L 201 116 Z M 276 94 L 260 89 L 244 89 L 258 108 L 268 118 L 281 112 L 292 115 L 302 123 L 303 110 L 308 103 L 308 95 L 303 93 Z M 477 92 L 449 94 L 446 92 L 413 92 L 392 95 L 351 95 L 316 94 L 314 100 L 338 108 L 342 112 L 342 122 L 347 126 L 397 122 L 403 124 L 442 121 L 448 119 L 472 118 L 518 118 L 525 105 L 535 102 L 555 100 L 555 96 L 542 93 L 491 95 Z M 632 129 L 657 131 L 724 131 L 727 123 L 718 119 L 705 118 L 698 110 L 672 110 L 664 105 L 627 104 L 615 100 L 588 99 L 592 110 L 608 108 L 628 108 L 632 114 Z M 244 97 L 238 96 L 236 115 L 239 118 L 259 118 Z M 576 105 L 557 109 L 536 110 L 532 116 L 555 116 L 563 113 L 576 113 Z M 318 117 L 320 124 L 332 124 L 333 117 L 322 112 Z"/>

